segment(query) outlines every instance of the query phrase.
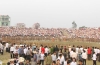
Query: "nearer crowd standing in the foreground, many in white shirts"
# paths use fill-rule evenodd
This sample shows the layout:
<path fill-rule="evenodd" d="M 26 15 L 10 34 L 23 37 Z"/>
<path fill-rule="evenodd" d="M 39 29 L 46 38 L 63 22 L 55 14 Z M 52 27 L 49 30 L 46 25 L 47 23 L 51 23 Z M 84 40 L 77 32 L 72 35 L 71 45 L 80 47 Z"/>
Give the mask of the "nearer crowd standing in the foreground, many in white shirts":
<path fill-rule="evenodd" d="M 7 65 L 86 65 L 87 60 L 97 65 L 96 62 L 100 62 L 100 48 L 97 47 L 0 43 L 2 55 L 4 48 L 11 58 Z"/>

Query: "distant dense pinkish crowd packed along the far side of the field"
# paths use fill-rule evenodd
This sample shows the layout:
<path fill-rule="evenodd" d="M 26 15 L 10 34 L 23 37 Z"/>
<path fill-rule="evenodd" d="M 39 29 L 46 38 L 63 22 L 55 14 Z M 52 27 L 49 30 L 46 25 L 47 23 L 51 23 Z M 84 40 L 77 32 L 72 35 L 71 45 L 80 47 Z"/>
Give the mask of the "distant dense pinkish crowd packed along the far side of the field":
<path fill-rule="evenodd" d="M 93 38 L 100 39 L 100 28 L 16 28 L 16 27 L 0 27 L 0 36 L 64 36 L 63 31 L 67 34 L 67 38 Z"/>

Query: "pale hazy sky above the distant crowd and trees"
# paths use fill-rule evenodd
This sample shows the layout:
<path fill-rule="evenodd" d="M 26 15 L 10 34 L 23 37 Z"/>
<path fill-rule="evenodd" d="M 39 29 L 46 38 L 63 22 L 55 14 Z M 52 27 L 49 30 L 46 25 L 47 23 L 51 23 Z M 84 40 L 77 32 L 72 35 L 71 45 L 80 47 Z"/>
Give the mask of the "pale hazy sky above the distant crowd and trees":
<path fill-rule="evenodd" d="M 0 0 L 0 15 L 9 15 L 11 25 L 41 27 L 100 26 L 100 0 Z"/>

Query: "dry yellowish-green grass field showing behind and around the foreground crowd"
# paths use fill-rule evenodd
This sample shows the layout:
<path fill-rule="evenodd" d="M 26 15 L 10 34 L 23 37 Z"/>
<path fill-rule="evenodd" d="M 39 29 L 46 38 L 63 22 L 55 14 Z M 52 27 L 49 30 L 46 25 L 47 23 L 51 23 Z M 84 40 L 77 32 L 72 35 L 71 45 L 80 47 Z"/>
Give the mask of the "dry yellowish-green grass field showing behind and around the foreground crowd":
<path fill-rule="evenodd" d="M 70 45 L 75 45 L 75 46 L 81 45 L 83 47 L 96 46 L 96 47 L 100 48 L 100 44 L 96 43 L 96 42 L 89 43 L 89 42 L 72 42 L 72 41 L 55 41 L 55 42 L 52 42 L 52 41 L 24 41 L 24 43 L 27 43 L 27 44 L 35 43 L 37 46 L 40 46 L 40 44 L 47 45 L 47 46 L 54 46 L 54 45 L 58 45 L 58 46 L 61 46 L 61 45 L 65 46 L 66 45 L 66 46 L 68 46 L 70 44 Z M 3 62 L 3 65 L 6 65 L 6 63 L 8 62 L 9 59 L 10 59 L 9 53 L 4 52 L 4 55 L 0 55 L 0 60 Z M 87 65 L 92 65 L 92 60 L 87 61 Z M 100 65 L 100 62 L 97 61 L 97 65 Z"/>

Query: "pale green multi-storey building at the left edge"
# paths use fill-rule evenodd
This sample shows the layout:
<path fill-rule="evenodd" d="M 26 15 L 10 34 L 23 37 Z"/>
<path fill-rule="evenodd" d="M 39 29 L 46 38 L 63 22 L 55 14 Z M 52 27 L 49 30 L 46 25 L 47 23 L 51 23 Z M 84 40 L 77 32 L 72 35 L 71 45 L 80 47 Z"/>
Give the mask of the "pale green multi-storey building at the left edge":
<path fill-rule="evenodd" d="M 0 15 L 0 26 L 10 26 L 10 17 L 8 15 Z"/>

